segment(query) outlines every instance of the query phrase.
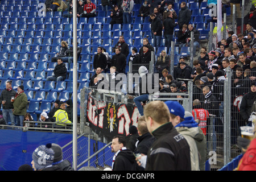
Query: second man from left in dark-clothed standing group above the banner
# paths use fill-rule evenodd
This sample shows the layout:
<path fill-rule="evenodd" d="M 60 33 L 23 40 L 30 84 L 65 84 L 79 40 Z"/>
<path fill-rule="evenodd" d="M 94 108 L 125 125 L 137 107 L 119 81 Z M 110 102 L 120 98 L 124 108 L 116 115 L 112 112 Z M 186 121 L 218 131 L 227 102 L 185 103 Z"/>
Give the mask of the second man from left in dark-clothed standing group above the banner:
<path fill-rule="evenodd" d="M 121 53 L 121 48 L 115 48 L 115 55 L 112 56 L 112 67 L 117 68 L 118 73 L 124 73 L 126 67 L 126 56 Z"/>

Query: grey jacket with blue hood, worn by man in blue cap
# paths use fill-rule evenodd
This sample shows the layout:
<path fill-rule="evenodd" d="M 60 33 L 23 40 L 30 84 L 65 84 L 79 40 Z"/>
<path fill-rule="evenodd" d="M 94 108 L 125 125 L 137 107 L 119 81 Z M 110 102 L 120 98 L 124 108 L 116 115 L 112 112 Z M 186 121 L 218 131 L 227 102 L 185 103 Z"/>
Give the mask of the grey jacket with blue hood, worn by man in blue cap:
<path fill-rule="evenodd" d="M 199 151 L 196 140 L 199 135 L 199 127 L 193 117 L 186 117 L 183 122 L 175 126 L 176 130 L 184 136 L 190 147 L 191 170 L 199 171 Z"/>

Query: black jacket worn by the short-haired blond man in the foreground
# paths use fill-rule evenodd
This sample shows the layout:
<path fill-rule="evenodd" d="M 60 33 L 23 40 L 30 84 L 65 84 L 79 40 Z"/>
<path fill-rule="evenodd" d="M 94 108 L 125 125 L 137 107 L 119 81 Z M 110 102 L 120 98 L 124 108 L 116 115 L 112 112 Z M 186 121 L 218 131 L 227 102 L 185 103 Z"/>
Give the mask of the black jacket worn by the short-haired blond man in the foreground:
<path fill-rule="evenodd" d="M 191 171 L 187 140 L 168 122 L 152 132 L 156 138 L 147 153 L 146 171 Z"/>

